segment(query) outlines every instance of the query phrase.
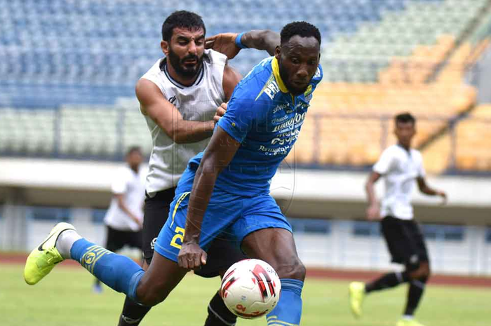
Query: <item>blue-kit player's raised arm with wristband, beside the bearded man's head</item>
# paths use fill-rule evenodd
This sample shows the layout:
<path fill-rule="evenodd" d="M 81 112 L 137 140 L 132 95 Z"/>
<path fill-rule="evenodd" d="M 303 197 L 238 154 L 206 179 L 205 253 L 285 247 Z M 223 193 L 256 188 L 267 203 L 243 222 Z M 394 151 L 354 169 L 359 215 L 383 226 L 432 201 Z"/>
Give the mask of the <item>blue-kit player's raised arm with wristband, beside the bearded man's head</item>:
<path fill-rule="evenodd" d="M 233 59 L 241 50 L 236 45 L 238 33 L 222 33 L 210 36 L 206 39 L 206 48 L 227 55 Z M 255 48 L 257 50 L 266 50 L 269 55 L 274 55 L 274 49 L 280 45 L 280 34 L 268 29 L 253 30 L 241 35 L 241 43 L 246 48 Z"/>

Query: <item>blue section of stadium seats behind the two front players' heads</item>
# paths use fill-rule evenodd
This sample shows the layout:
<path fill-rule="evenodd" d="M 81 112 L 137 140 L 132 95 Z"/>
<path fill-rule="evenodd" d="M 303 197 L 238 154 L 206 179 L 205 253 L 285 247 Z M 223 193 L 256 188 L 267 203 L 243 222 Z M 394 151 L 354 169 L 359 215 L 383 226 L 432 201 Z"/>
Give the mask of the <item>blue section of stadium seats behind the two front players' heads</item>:
<path fill-rule="evenodd" d="M 0 62 L 0 104 L 110 104 L 116 97 L 133 96 L 135 81 L 161 56 L 162 20 L 176 9 L 203 15 L 208 34 L 260 28 L 278 31 L 292 20 L 308 20 L 321 29 L 324 43 L 332 41 L 325 53 L 328 57 L 331 48 L 361 48 L 354 40 L 343 40 L 349 35 L 363 39 L 367 29 L 362 27 L 372 22 L 377 26 L 382 17 L 398 17 L 413 7 L 440 8 L 442 2 L 453 6 L 452 1 L 314 0 L 297 11 L 296 1 L 291 0 L 267 5 L 259 0 L 206 4 L 180 0 L 0 0 L 0 56 L 5 58 Z M 466 12 L 471 15 L 468 8 Z M 274 20 L 271 13 L 276 13 Z M 387 24 L 391 22 L 387 20 Z M 254 50 L 245 52 L 247 55 L 232 62 L 243 74 L 266 56 Z"/>

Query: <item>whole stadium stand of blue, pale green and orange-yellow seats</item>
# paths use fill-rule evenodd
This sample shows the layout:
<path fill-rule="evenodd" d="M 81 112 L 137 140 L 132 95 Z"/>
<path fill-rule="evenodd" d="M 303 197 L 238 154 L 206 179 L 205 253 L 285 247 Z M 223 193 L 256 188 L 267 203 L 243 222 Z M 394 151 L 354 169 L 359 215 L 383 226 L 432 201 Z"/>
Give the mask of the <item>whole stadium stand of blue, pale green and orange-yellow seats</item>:
<path fill-rule="evenodd" d="M 203 15 L 209 35 L 302 19 L 321 29 L 325 79 L 287 161 L 366 167 L 394 142 L 398 111 L 417 116 L 415 145 L 435 157 L 430 170 L 457 160 L 433 163 L 453 153 L 451 136 L 440 134 L 476 102 L 462 80 L 489 44 L 488 1 L 313 0 L 302 11 L 296 4 L 0 0 L 0 152 L 113 159 L 137 143 L 149 154 L 147 127 L 129 98 L 161 56 L 163 17 L 185 8 Z M 242 73 L 264 57 L 245 53 L 231 62 Z M 16 128 L 20 121 L 28 132 Z"/>

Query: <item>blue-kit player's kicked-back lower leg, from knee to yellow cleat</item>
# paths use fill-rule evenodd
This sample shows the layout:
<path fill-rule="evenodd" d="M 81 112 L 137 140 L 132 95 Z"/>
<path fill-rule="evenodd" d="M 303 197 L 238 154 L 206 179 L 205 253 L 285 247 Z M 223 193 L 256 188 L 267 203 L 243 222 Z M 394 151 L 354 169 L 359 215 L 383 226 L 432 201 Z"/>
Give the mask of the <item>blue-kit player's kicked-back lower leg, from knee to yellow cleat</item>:
<path fill-rule="evenodd" d="M 90 243 L 71 224 L 60 223 L 29 254 L 24 270 L 26 282 L 38 283 L 64 259 L 76 260 L 102 283 L 145 306 L 166 299 L 187 273 L 160 254 L 154 254 L 152 264 L 144 272 L 132 259 Z"/>

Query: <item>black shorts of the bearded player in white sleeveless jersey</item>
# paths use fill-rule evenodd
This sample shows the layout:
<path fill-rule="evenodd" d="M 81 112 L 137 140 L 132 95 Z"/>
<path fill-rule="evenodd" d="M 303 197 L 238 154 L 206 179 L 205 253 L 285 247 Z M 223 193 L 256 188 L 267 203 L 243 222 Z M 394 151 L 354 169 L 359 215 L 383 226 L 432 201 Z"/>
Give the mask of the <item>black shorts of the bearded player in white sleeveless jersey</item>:
<path fill-rule="evenodd" d="M 171 188 L 159 191 L 152 198 L 148 195 L 145 198 L 143 257 L 148 264 L 152 262 L 152 257 L 154 257 L 154 245 L 163 224 L 166 224 L 174 194 L 175 188 Z M 247 257 L 235 243 L 218 237 L 210 245 L 207 264 L 194 273 L 205 278 L 213 278 L 220 275 L 220 271 L 226 271 L 229 266 L 245 258 Z"/>

